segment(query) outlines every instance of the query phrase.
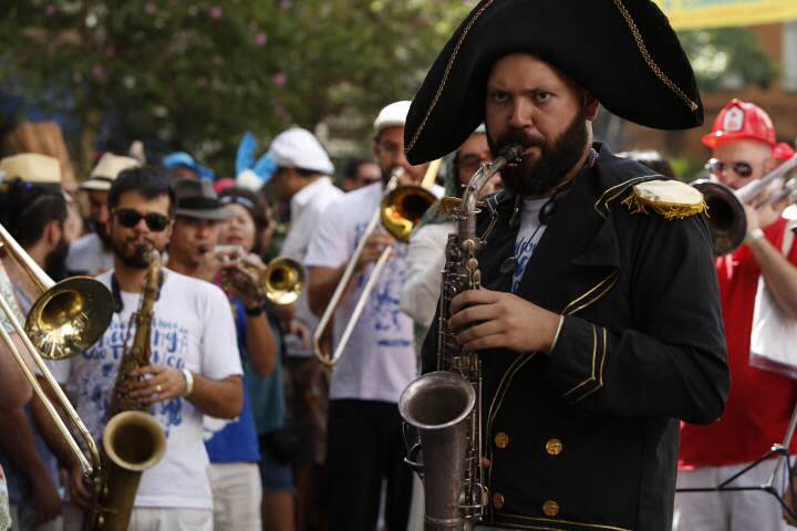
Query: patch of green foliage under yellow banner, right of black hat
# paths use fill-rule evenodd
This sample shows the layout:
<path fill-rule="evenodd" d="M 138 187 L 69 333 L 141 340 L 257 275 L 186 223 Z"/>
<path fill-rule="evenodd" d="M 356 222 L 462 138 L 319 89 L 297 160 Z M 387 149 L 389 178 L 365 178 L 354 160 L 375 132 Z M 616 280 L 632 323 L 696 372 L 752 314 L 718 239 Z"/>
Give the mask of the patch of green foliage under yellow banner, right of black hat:
<path fill-rule="evenodd" d="M 684 31 L 679 34 L 692 61 L 702 91 L 769 86 L 777 76 L 777 64 L 769 59 L 746 28 Z"/>

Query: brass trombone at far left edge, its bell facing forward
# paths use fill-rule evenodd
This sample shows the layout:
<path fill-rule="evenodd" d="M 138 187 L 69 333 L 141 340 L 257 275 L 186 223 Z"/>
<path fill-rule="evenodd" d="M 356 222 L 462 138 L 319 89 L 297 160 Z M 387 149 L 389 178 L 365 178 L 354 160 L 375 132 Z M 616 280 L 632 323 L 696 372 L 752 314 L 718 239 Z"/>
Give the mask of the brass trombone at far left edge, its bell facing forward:
<path fill-rule="evenodd" d="M 22 371 L 33 393 L 44 405 L 61 436 L 69 445 L 83 470 L 83 475 L 94 482 L 100 477 L 100 454 L 94 438 L 89 433 L 77 412 L 74 410 L 61 386 L 55 382 L 44 364 L 44 358 L 63 360 L 77 355 L 91 346 L 105 332 L 113 315 L 113 296 L 101 282 L 89 277 L 74 277 L 53 282 L 50 277 L 21 248 L 13 237 L 0 225 L 0 253 L 8 256 L 22 269 L 41 292 L 28 313 L 24 326 L 19 322 L 11 303 L 0 296 L 0 310 L 20 337 L 23 346 L 55 395 L 72 425 L 80 433 L 86 446 L 81 450 L 69 428 L 55 410 L 49 396 L 28 366 L 22 353 L 14 344 L 11 334 L 0 325 L 0 341 L 6 345 Z M 0 268 L 0 274 L 6 274 Z M 10 281 L 10 277 L 6 274 Z M 91 461 L 91 462 L 90 462 Z"/>

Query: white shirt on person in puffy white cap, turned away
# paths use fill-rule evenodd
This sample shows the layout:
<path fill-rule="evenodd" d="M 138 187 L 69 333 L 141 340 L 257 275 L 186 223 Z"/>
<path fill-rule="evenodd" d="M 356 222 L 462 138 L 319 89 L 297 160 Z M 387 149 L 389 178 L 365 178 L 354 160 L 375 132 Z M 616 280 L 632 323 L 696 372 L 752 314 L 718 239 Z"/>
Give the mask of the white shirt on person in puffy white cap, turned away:
<path fill-rule="evenodd" d="M 332 184 L 329 177 L 320 177 L 291 197 L 291 225 L 286 236 L 280 254 L 304 262 L 310 241 L 315 233 L 321 214 L 334 199 L 341 197 L 343 191 Z M 303 290 L 297 301 L 296 316 L 312 332 L 318 319 L 310 311 L 307 301 L 307 290 Z M 292 357 L 312 357 L 312 348 L 306 348 L 296 336 L 286 336 L 286 354 Z"/>

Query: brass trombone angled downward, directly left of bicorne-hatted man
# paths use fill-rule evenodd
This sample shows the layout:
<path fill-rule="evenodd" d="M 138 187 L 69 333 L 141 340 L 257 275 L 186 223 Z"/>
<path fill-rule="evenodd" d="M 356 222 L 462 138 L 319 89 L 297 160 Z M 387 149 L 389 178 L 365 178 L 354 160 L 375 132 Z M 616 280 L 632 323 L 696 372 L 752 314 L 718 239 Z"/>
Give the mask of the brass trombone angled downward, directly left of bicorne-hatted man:
<path fill-rule="evenodd" d="M 432 162 L 420 186 L 398 185 L 398 179 L 404 170 L 400 167 L 393 170 L 391 178 L 385 186 L 386 191 L 382 197 L 380 208 L 373 215 L 371 221 L 365 228 L 365 232 L 360 238 L 360 242 L 358 243 L 356 249 L 354 249 L 354 253 L 349 259 L 349 263 L 343 270 L 343 275 L 335 287 L 335 291 L 332 294 L 330 302 L 327 304 L 318 326 L 315 326 L 315 330 L 313 331 L 313 351 L 315 352 L 315 357 L 318 357 L 322 365 L 329 368 L 334 368 L 335 365 L 338 365 L 340 357 L 343 355 L 343 348 L 345 348 L 346 343 L 349 343 L 349 337 L 354 331 L 354 325 L 360 319 L 360 314 L 371 296 L 371 291 L 373 291 L 376 285 L 376 281 L 379 281 L 380 277 L 384 272 L 384 268 L 387 266 L 390 256 L 393 252 L 393 246 L 391 246 L 384 249 L 382 254 L 380 254 L 380 258 L 376 260 L 376 263 L 371 271 L 371 275 L 360 294 L 360 299 L 354 306 L 354 311 L 343 330 L 343 334 L 341 335 L 334 352 L 331 356 L 327 356 L 321 351 L 321 337 L 323 336 L 323 333 L 327 330 L 338 304 L 343 298 L 343 293 L 349 285 L 352 275 L 354 274 L 356 262 L 365 248 L 365 241 L 376 230 L 380 220 L 382 221 L 382 226 L 391 236 L 393 236 L 393 238 L 402 242 L 410 241 L 410 236 L 412 235 L 413 229 L 417 227 L 417 223 L 421 221 L 421 218 L 426 210 L 428 210 L 428 208 L 437 200 L 434 194 L 429 191 L 429 188 L 432 188 L 435 177 L 437 177 L 439 167 L 441 159 Z"/>

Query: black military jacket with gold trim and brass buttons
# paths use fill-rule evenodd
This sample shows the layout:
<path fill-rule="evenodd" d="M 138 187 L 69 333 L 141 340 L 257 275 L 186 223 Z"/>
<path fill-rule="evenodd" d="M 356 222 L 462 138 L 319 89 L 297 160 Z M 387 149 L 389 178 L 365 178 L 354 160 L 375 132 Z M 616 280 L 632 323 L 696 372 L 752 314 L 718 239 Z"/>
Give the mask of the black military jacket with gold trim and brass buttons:
<path fill-rule="evenodd" d="M 594 147 L 597 164 L 557 200 L 518 293 L 566 316 L 555 348 L 483 352 L 488 524 L 669 531 L 679 420 L 712 423 L 727 396 L 704 216 L 632 214 L 622 200 L 633 185 L 662 177 Z M 516 200 L 503 194 L 493 206 L 483 285 L 509 291 Z"/>

